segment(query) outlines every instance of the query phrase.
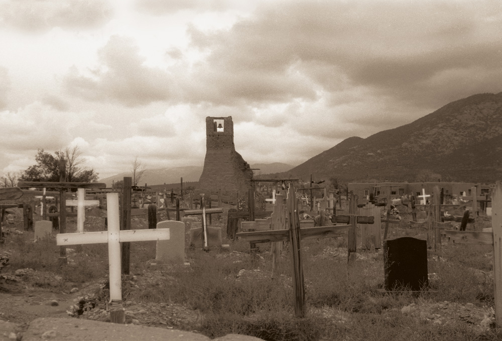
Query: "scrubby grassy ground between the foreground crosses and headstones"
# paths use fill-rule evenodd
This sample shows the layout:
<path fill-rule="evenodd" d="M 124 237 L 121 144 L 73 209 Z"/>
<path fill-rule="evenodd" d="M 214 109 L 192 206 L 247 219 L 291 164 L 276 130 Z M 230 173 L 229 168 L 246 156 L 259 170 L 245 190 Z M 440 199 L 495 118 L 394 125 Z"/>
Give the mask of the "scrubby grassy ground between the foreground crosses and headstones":
<path fill-rule="evenodd" d="M 401 211 L 405 211 L 403 208 Z M 407 228 L 407 214 L 390 237 L 415 236 L 424 232 Z M 419 216 L 420 218 L 420 216 Z M 74 229 L 69 220 L 68 231 Z M 223 226 L 226 219 L 213 221 Z M 480 230 L 489 222 L 478 219 Z M 144 219 L 134 219 L 133 228 L 146 228 Z M 18 227 L 20 230 L 21 227 Z M 102 219 L 86 219 L 86 230 L 103 230 Z M 224 234 L 224 233 L 223 233 Z M 58 282 L 32 283 L 47 290 L 68 291 L 75 284 L 99 281 L 107 275 L 106 245 L 85 245 L 72 253 L 74 265 L 58 265 L 59 247 L 54 239 L 33 243 L 33 233 L 9 235 L 0 250 L 9 250 L 8 271 L 32 268 L 54 273 Z M 306 317 L 294 317 L 291 261 L 288 247 L 281 256 L 280 275 L 271 278 L 270 246 L 260 245 L 256 259 L 248 255 L 248 244 L 228 241 L 232 252 L 204 252 L 187 248 L 189 268 L 161 270 L 165 282 L 128 290 L 127 300 L 153 303 L 179 303 L 200 312 L 198 321 L 178 327 L 197 330 L 209 336 L 230 332 L 265 340 L 496 340 L 502 333 L 479 328 L 479 321 L 461 318 L 440 319 L 403 313 L 406 306 L 445 305 L 446 301 L 490 311 L 493 306 L 492 250 L 486 246 L 443 243 L 439 257 L 428 260 L 431 287 L 420 295 L 407 292 L 383 293 L 382 252 L 359 252 L 358 260 L 347 264 L 346 239 L 327 238 L 302 242 L 306 286 Z M 131 269 L 137 276 L 154 271 L 155 242 L 131 244 Z M 6 269 L 4 269 L 6 270 Z M 5 273 L 5 271 L 3 271 Z M 484 277 L 483 277 L 484 276 Z"/>

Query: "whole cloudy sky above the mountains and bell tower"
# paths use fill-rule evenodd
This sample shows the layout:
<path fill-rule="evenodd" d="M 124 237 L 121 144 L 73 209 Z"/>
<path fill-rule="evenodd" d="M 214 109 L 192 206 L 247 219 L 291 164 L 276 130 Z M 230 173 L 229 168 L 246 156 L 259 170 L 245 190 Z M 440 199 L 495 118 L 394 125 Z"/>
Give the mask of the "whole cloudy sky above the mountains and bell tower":
<path fill-rule="evenodd" d="M 502 91 L 495 0 L 0 0 L 0 43 L 0 176 L 75 145 L 100 179 L 203 165 L 206 116 L 297 165 Z"/>

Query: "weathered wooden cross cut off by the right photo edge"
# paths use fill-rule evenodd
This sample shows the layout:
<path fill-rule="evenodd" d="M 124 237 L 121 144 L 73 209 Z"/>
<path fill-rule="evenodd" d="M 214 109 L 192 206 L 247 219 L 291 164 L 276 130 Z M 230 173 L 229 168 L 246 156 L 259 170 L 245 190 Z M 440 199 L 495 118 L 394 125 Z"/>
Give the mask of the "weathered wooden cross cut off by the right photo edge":
<path fill-rule="evenodd" d="M 443 234 L 456 244 L 493 245 L 493 283 L 495 298 L 495 325 L 502 326 L 502 187 L 497 181 L 491 194 L 492 232 L 444 231 Z"/>

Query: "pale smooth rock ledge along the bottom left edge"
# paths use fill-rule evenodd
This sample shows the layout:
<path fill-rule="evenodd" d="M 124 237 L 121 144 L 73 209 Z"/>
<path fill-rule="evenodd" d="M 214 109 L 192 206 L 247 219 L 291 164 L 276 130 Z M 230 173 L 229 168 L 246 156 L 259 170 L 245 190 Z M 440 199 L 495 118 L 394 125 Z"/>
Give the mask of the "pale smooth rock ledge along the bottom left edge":
<path fill-rule="evenodd" d="M 8 340 L 11 333 L 21 339 L 19 326 L 0 321 L 0 340 Z M 12 338 L 11 338 L 12 339 Z M 118 340 L 162 340 L 162 341 L 207 341 L 210 338 L 201 334 L 177 329 L 146 327 L 133 324 L 115 324 L 75 318 L 37 318 L 24 331 L 23 341 L 118 341 Z M 259 341 L 261 338 L 228 334 L 217 337 L 218 341 Z"/>

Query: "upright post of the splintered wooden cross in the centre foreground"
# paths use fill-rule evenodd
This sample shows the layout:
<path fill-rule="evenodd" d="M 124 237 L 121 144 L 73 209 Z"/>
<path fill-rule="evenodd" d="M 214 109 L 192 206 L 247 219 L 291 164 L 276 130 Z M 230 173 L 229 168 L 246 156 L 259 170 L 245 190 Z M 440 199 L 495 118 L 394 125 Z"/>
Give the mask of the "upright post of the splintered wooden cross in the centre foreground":
<path fill-rule="evenodd" d="M 303 278 L 302 252 L 300 248 L 300 222 L 298 219 L 298 206 L 293 186 L 289 188 L 288 218 L 290 224 L 290 243 L 293 253 L 293 291 L 295 293 L 295 315 L 303 317 L 305 314 L 305 286 Z"/>

